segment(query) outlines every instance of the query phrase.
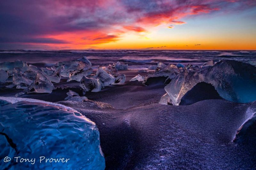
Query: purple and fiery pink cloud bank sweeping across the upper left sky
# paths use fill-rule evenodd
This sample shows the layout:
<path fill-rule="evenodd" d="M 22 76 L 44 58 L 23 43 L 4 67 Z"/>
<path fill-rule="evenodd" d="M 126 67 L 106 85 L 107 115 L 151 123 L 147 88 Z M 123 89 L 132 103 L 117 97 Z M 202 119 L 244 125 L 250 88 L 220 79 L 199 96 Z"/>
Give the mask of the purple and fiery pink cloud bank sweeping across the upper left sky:
<path fill-rule="evenodd" d="M 255 0 L 11 0 L 0 1 L 0 48 L 84 48 L 147 32 L 187 16 L 244 10 Z M 85 39 L 84 39 L 85 38 Z"/>

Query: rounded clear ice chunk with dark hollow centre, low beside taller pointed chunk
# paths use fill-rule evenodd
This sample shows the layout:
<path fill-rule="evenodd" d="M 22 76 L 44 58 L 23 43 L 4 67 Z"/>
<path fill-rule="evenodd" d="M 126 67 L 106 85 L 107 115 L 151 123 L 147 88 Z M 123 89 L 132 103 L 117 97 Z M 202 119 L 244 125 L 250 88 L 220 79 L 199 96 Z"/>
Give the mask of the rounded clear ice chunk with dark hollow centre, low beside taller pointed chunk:
<path fill-rule="evenodd" d="M 101 90 L 101 83 L 99 78 L 83 77 L 79 85 L 84 91 L 99 92 Z"/>

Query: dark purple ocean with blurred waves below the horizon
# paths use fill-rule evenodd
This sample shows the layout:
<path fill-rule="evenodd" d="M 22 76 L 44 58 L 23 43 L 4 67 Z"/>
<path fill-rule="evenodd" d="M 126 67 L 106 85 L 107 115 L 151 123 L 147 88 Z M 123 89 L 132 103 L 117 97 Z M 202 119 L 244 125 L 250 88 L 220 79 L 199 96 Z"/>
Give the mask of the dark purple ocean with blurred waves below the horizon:
<path fill-rule="evenodd" d="M 209 50 L 12 50 L 0 51 L 0 62 L 22 60 L 37 67 L 55 65 L 59 61 L 79 59 L 86 56 L 92 62 L 92 68 L 113 64 L 117 61 L 128 64 L 129 69 L 146 69 L 164 64 L 202 65 L 209 60 L 238 60 L 247 62 L 256 59 L 256 51 L 209 51 Z"/>

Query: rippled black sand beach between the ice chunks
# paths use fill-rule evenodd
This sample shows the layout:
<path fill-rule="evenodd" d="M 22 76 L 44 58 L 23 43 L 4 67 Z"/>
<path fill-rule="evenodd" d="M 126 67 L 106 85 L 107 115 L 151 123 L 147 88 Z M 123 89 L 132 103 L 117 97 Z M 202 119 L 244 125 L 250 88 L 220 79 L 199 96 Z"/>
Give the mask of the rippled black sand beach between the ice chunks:
<path fill-rule="evenodd" d="M 95 122 L 106 169 L 255 167 L 255 130 L 249 129 L 240 140 L 233 142 L 248 108 L 256 108 L 255 102 L 239 104 L 215 99 L 188 106 L 158 104 L 165 94 L 163 82 L 144 86 L 142 82 L 129 81 L 137 71 L 119 73 L 126 75 L 124 84 L 110 85 L 97 93 L 86 92 L 89 100 L 84 102 L 63 101 L 69 89 L 82 96 L 82 90 L 67 87 L 53 90 L 51 94 L 20 97 L 58 102 Z M 54 85 L 75 87 L 79 82 L 64 79 Z M 1 89 L 1 96 L 14 96 L 18 91 L 12 89 L 6 93 Z"/>

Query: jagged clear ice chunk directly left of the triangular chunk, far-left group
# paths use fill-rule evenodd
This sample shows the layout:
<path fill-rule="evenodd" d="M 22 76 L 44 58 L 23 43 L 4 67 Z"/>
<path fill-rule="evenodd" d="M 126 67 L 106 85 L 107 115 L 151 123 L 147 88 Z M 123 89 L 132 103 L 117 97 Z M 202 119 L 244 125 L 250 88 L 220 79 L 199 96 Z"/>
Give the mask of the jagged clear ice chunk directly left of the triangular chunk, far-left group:
<path fill-rule="evenodd" d="M 17 85 L 17 89 L 27 89 L 36 80 L 36 72 L 25 71 L 21 73 L 20 71 L 13 71 L 12 83 Z"/>

